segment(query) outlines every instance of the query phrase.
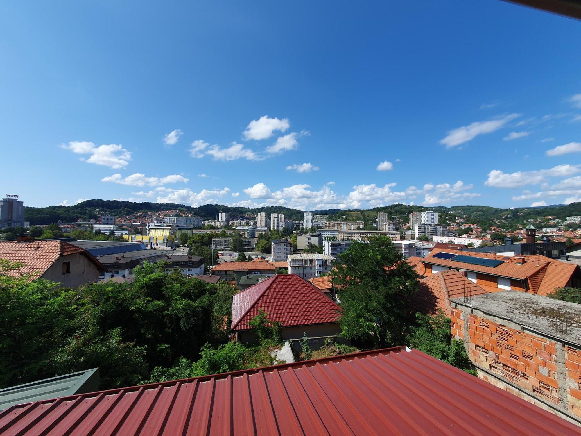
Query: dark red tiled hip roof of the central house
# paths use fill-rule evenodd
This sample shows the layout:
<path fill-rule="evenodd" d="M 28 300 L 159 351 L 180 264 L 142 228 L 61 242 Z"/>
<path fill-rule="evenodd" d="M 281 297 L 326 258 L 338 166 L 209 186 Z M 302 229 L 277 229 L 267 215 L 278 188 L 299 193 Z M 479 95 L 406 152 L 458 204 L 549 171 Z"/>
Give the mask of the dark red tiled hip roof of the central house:
<path fill-rule="evenodd" d="M 277 274 L 232 296 L 232 330 L 247 330 L 259 309 L 285 327 L 335 323 L 339 306 L 296 274 Z"/>

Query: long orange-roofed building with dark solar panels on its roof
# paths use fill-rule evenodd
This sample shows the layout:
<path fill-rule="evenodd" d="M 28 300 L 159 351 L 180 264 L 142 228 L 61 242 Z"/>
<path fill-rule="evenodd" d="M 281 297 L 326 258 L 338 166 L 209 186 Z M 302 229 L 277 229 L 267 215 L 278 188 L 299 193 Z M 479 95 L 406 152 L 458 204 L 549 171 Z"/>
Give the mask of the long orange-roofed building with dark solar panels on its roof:
<path fill-rule="evenodd" d="M 451 269 L 461 271 L 489 292 L 515 290 L 548 295 L 557 288 L 581 287 L 578 265 L 540 255 L 504 256 L 434 248 L 429 256 L 418 259 L 415 268 L 424 277 Z"/>

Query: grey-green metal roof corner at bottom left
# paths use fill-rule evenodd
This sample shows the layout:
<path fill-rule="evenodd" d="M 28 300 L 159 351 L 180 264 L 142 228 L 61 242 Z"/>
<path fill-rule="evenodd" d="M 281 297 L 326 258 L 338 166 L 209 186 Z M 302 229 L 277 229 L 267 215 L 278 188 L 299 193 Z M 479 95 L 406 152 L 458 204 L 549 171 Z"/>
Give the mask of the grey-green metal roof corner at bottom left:
<path fill-rule="evenodd" d="M 44 380 L 0 389 L 0 410 L 24 402 L 41 401 L 55 398 L 56 396 L 83 394 L 98 388 L 98 368 L 45 378 Z"/>

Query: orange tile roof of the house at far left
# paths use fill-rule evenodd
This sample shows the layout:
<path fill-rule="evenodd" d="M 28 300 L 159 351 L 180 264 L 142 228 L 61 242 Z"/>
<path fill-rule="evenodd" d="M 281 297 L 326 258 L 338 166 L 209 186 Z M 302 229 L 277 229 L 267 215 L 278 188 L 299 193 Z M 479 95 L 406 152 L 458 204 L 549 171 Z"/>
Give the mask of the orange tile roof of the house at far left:
<path fill-rule="evenodd" d="M 34 240 L 31 242 L 0 241 L 0 259 L 21 262 L 23 267 L 11 270 L 6 275 L 17 277 L 20 274 L 33 274 L 32 278 L 42 276 L 60 256 L 80 253 L 86 256 L 99 271 L 106 268 L 87 250 L 60 240 Z"/>

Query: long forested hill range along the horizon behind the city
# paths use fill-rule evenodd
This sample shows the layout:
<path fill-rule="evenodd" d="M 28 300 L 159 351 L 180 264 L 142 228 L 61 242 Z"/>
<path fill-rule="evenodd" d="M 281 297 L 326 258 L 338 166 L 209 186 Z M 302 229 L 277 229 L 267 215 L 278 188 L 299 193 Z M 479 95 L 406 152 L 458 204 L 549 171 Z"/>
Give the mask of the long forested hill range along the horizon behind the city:
<path fill-rule="evenodd" d="M 285 208 L 284 206 L 267 206 L 264 208 L 249 209 L 230 207 L 223 205 L 203 205 L 197 208 L 175 203 L 151 203 L 142 202 L 134 203 L 130 201 L 101 200 L 93 199 L 78 203 L 74 206 L 48 206 L 46 208 L 26 208 L 26 220 L 31 225 L 35 224 L 52 224 L 58 220 L 64 223 L 70 223 L 82 219 L 97 219 L 101 213 L 109 213 L 116 216 L 131 215 L 136 212 L 159 212 L 160 210 L 182 210 L 193 213 L 194 216 L 200 216 L 204 219 L 216 219 L 218 212 L 229 212 L 234 217 L 254 218 L 258 212 L 283 213 L 285 219 L 302 220 L 303 211 L 297 209 Z M 542 223 L 544 216 L 556 216 L 558 219 L 564 219 L 566 216 L 581 215 L 581 202 L 571 203 L 569 205 L 542 206 L 536 208 L 515 208 L 501 209 L 490 206 L 435 206 L 426 208 L 424 206 L 410 206 L 403 204 L 394 204 L 382 208 L 365 209 L 365 210 L 340 210 L 328 209 L 317 210 L 313 213 L 324 213 L 329 216 L 330 220 L 348 220 L 348 221 L 365 221 L 365 223 L 374 223 L 378 212 L 387 212 L 389 216 L 399 217 L 403 221 L 406 215 L 411 212 L 421 212 L 422 210 L 434 210 L 440 212 L 442 219 L 440 221 L 454 220 L 456 216 L 467 217 L 475 224 L 483 227 L 490 226 L 493 223 L 506 223 L 509 227 L 533 219 Z"/>

